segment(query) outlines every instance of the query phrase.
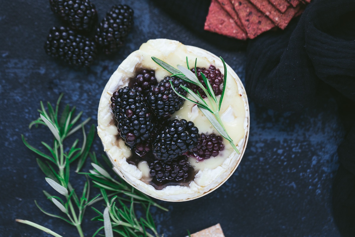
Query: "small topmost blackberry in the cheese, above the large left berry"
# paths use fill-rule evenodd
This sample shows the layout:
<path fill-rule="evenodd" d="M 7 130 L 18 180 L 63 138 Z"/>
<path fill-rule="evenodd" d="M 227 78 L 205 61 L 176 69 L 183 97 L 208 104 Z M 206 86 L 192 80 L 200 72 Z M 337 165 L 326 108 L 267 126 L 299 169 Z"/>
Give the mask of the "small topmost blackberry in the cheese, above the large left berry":
<path fill-rule="evenodd" d="M 134 78 L 130 80 L 129 86 L 141 92 L 144 99 L 147 99 L 149 91 L 158 84 L 154 70 L 142 69 Z"/>

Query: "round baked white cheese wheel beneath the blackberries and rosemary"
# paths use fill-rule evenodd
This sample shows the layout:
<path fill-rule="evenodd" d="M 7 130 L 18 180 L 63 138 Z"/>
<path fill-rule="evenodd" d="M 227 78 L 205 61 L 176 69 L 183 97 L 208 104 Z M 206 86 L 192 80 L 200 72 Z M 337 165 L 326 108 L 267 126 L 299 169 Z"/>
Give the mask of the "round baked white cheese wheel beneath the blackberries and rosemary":
<path fill-rule="evenodd" d="M 142 44 L 139 50 L 131 53 L 107 82 L 98 108 L 98 135 L 102 140 L 104 151 L 113 163 L 115 172 L 136 189 L 164 201 L 188 201 L 200 198 L 220 187 L 233 174 L 244 154 L 249 136 L 249 105 L 244 86 L 234 70 L 226 64 L 227 82 L 219 114 L 240 154 L 237 154 L 224 138 L 220 138 L 220 141 L 223 141 L 222 150 L 206 159 L 196 156 L 199 151 L 195 147 L 195 156 L 191 152 L 184 154 L 187 156 L 189 167 L 192 167 L 192 178 L 185 183 L 166 183 L 159 188 L 152 182 L 154 177 L 149 170 L 151 167 L 149 162 L 143 161 L 137 164 L 129 162 L 135 150 L 126 146 L 120 138 L 111 108 L 113 93 L 128 86 L 130 80 L 142 69 L 154 72 L 157 82 L 162 81 L 166 76 L 171 76 L 170 72 L 152 60 L 152 56 L 174 68 L 178 65 L 187 68 L 186 57 L 190 66 L 195 65 L 197 59 L 197 68 L 206 69 L 212 65 L 212 68 L 214 66 L 215 70 L 219 70 L 218 74 L 224 74 L 222 61 L 204 49 L 170 39 L 151 39 Z M 218 98 L 220 95 L 217 96 Z M 190 101 L 185 101 L 180 109 L 172 114 L 170 120 L 174 119 L 192 121 L 198 128 L 198 132 L 205 136 L 212 134 L 220 136 L 196 104 Z M 163 126 L 159 121 L 158 125 Z"/>

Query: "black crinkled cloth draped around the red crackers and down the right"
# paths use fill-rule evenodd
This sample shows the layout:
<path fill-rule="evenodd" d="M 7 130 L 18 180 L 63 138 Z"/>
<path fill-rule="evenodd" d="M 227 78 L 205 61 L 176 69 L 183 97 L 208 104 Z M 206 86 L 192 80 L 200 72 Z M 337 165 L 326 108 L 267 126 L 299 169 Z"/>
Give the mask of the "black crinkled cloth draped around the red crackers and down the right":
<path fill-rule="evenodd" d="M 227 48 L 245 46 L 203 32 L 210 1 L 154 1 L 208 42 Z M 284 31 L 266 32 L 247 41 L 246 54 L 248 97 L 268 108 L 300 112 L 316 104 L 324 85 L 334 88 L 333 96 L 345 114 L 347 135 L 338 148 L 333 215 L 342 235 L 354 237 L 355 0 L 312 0 Z"/>

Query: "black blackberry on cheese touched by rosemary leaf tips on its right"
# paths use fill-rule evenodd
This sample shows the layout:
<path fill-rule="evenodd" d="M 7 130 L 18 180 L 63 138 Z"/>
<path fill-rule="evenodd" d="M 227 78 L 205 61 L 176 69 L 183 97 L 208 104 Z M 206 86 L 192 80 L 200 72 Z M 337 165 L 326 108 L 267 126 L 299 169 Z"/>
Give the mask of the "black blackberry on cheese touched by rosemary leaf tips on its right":
<path fill-rule="evenodd" d="M 147 101 L 152 108 L 157 120 L 169 119 L 175 111 L 178 111 L 185 99 L 176 95 L 171 88 L 170 82 L 173 82 L 174 88 L 181 95 L 186 96 L 186 91 L 180 85 L 188 86 L 187 82 L 177 77 L 165 77 L 158 85 L 154 86 L 148 93 Z"/>

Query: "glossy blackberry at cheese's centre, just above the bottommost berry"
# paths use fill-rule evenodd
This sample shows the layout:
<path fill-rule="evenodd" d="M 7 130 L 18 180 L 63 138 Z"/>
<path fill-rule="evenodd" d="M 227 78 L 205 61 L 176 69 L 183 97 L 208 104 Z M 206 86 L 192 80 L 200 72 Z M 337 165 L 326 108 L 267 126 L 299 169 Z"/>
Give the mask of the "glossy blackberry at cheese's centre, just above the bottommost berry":
<path fill-rule="evenodd" d="M 185 119 L 174 119 L 153 141 L 153 154 L 162 160 L 172 160 L 191 150 L 198 140 L 198 128 Z"/>

